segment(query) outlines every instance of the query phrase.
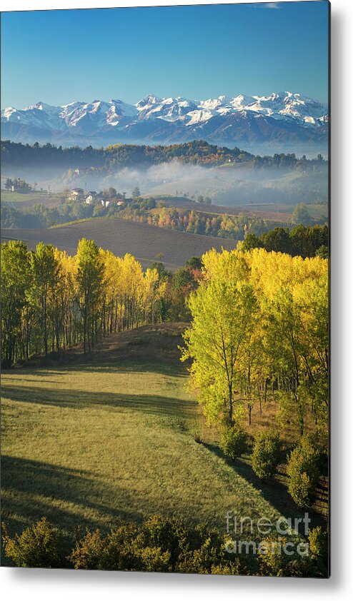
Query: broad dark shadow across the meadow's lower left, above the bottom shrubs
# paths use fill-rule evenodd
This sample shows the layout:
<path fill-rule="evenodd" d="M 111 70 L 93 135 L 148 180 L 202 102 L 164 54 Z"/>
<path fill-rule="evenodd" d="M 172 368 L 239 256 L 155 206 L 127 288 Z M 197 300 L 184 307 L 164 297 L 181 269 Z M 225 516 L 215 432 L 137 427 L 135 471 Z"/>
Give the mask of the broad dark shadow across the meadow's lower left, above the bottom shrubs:
<path fill-rule="evenodd" d="M 124 505 L 116 500 L 120 492 Z M 112 504 L 106 505 L 104 498 Z M 142 519 L 138 512 L 129 510 L 134 505 L 132 493 L 125 488 L 120 491 L 119 482 L 99 483 L 87 470 L 7 455 L 1 457 L 1 501 L 2 520 L 15 532 L 43 516 L 61 530 L 73 530 L 78 524 L 109 527 L 121 520 Z M 103 523 L 98 523 L 97 515 Z"/>

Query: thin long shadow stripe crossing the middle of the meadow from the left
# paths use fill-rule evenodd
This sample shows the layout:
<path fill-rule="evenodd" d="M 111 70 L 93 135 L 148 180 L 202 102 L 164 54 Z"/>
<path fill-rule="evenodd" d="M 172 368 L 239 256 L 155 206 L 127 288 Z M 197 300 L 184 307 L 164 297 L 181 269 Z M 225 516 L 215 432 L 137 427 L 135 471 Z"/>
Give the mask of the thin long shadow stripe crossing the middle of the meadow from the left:
<path fill-rule="evenodd" d="M 1 386 L 3 398 L 21 403 L 35 403 L 61 408 L 83 409 L 96 405 L 141 411 L 142 413 L 166 417 L 182 417 L 194 410 L 192 400 L 171 396 L 126 393 L 90 392 L 67 388 L 41 388 L 36 386 Z"/>

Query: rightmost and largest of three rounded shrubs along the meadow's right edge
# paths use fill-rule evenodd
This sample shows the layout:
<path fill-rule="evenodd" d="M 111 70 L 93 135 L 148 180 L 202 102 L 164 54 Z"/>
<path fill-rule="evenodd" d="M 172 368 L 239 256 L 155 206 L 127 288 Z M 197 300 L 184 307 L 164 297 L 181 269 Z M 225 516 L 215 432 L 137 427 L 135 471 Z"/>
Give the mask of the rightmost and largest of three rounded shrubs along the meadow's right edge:
<path fill-rule="evenodd" d="M 310 507 L 314 502 L 319 482 L 319 450 L 307 437 L 292 450 L 288 458 L 289 494 L 299 507 Z"/>

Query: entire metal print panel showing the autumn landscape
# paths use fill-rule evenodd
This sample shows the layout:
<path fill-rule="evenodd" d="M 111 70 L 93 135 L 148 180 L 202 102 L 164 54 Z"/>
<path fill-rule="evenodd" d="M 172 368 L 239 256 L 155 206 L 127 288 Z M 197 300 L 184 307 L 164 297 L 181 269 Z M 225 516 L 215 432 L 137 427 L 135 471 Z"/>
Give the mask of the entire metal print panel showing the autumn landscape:
<path fill-rule="evenodd" d="M 2 565 L 327 578 L 329 2 L 4 12 L 1 94 Z"/>

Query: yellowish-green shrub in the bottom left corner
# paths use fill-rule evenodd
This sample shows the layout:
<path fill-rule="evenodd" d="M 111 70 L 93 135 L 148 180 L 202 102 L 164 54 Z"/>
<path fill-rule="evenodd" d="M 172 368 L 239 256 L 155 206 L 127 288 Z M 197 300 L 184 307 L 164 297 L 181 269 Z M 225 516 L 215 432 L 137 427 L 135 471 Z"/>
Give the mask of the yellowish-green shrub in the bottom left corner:
<path fill-rule="evenodd" d="M 42 517 L 39 522 L 26 528 L 21 535 L 9 537 L 3 525 L 4 552 L 16 567 L 59 567 L 61 559 L 57 548 L 56 532 Z"/>

